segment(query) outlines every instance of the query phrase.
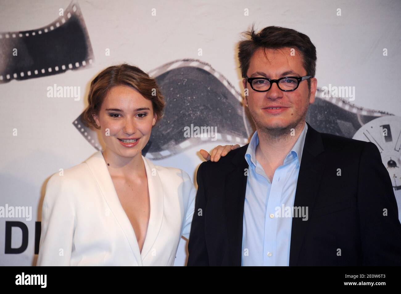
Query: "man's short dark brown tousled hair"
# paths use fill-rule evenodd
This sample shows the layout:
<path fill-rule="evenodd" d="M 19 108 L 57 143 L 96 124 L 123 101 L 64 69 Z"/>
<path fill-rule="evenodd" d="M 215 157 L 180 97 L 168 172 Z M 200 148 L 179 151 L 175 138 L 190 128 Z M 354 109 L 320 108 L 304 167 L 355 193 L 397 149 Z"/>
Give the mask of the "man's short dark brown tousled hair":
<path fill-rule="evenodd" d="M 284 47 L 296 48 L 303 59 L 306 74 L 314 78 L 316 74 L 316 47 L 310 38 L 296 30 L 279 26 L 267 26 L 259 33 L 255 32 L 254 25 L 248 32 L 243 32 L 246 38 L 238 43 L 238 60 L 241 75 L 246 78 L 249 62 L 259 48 L 280 49 Z M 310 79 L 308 79 L 310 89 Z"/>

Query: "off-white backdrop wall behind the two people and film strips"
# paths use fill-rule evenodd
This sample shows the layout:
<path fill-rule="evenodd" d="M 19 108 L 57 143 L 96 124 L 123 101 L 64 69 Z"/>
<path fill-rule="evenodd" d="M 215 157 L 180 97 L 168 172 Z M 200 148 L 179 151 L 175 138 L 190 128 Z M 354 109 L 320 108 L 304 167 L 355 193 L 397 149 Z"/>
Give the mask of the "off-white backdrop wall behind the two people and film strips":
<path fill-rule="evenodd" d="M 70 0 L 2 0 L 0 31 L 46 26 L 59 17 L 60 8 L 65 9 L 69 4 Z M 33 214 L 30 221 L 0 218 L 0 265 L 36 264 L 35 221 L 41 220 L 49 176 L 59 168 L 83 162 L 96 151 L 72 122 L 87 106 L 91 79 L 107 66 L 128 62 L 148 72 L 166 62 L 194 58 L 211 64 L 242 92 L 236 59 L 241 32 L 253 22 L 259 29 L 284 26 L 307 34 L 316 46 L 318 86 L 355 86 L 352 103 L 401 116 L 399 0 L 86 0 L 78 4 L 95 57 L 92 66 L 0 84 L 0 206 L 32 206 Z M 337 15 L 338 8 L 341 16 Z M 152 9 L 156 9 L 156 16 L 152 16 Z M 249 10 L 248 16 L 244 15 L 245 9 Z M 105 54 L 107 48 L 109 56 Z M 199 48 L 202 56 L 198 55 Z M 383 48 L 387 48 L 387 56 L 383 56 Z M 48 98 L 47 87 L 54 84 L 80 86 L 81 99 Z M 18 136 L 13 136 L 14 129 L 18 130 Z M 213 141 L 205 141 L 203 148 L 211 150 L 215 145 Z M 198 150 L 190 148 L 154 163 L 182 168 L 194 178 L 201 163 Z M 4 254 L 6 221 L 24 222 L 28 227 L 28 247 L 24 252 Z M 12 247 L 18 248 L 21 242 L 20 230 L 13 228 Z M 176 265 L 185 263 L 185 248 L 182 239 Z"/>

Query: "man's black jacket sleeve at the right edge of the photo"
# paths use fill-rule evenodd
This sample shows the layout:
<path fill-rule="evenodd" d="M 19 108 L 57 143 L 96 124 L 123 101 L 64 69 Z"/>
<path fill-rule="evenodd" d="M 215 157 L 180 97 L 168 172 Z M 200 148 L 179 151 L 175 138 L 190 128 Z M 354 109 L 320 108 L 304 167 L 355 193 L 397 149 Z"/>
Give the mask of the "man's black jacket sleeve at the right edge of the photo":
<path fill-rule="evenodd" d="M 400 266 L 401 224 L 397 202 L 375 144 L 365 145 L 359 164 L 357 201 L 363 265 Z"/>

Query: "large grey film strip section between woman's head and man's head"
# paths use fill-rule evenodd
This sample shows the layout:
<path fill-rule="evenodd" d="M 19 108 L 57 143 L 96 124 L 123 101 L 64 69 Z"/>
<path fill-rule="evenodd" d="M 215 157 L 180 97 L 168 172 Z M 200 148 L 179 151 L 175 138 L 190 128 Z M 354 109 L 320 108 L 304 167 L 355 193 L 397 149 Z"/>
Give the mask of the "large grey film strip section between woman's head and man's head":
<path fill-rule="evenodd" d="M 162 148 L 152 148 L 154 145 L 152 142 L 155 133 L 154 131 L 163 132 L 164 129 L 163 127 L 157 129 L 156 126 L 156 130 L 152 130 L 152 138 L 148 143 L 149 146 L 146 146 L 148 148 L 146 150 L 146 156 L 148 158 L 156 160 L 163 159 L 184 152 L 184 150 L 194 146 L 202 147 L 206 142 L 215 142 L 216 145 L 229 142 L 231 144 L 240 144 L 241 146 L 248 143 L 249 138 L 253 134 L 253 129 L 245 113 L 247 108 L 243 107 L 243 98 L 229 80 L 225 78 L 223 74 L 215 70 L 210 64 L 196 59 L 175 60 L 151 70 L 149 74 L 156 78 L 160 88 L 162 89 L 162 93 L 165 97 L 168 97 L 166 101 L 165 117 L 161 121 L 161 124 L 165 123 L 165 120 L 169 123 L 170 118 L 174 116 L 172 114 L 174 110 L 168 113 L 169 108 L 171 110 L 171 108 L 176 109 L 180 106 L 171 105 L 174 103 L 173 97 L 178 95 L 184 96 L 186 102 L 193 103 L 192 107 L 185 110 L 186 113 L 196 112 L 199 116 L 204 116 L 207 119 L 202 121 L 198 116 L 190 116 L 187 114 L 189 119 L 178 122 L 176 129 L 179 131 L 176 132 L 175 136 L 173 135 L 172 140 L 166 142 L 163 146 L 160 146 Z M 180 77 L 180 75 L 182 75 L 182 77 Z M 174 80 L 169 78 L 169 76 L 178 76 L 181 81 L 184 82 L 181 83 L 181 81 L 178 81 L 178 83 L 174 83 Z M 195 80 L 195 83 L 193 84 L 205 84 L 207 86 L 204 86 L 203 88 L 196 88 L 196 86 L 184 88 L 182 84 L 185 82 L 190 84 L 191 80 Z M 180 91 L 177 91 L 179 92 L 178 94 L 170 94 L 168 92 L 169 90 L 172 91 L 172 89 L 177 89 L 180 86 L 182 86 L 182 88 Z M 191 93 L 197 94 L 197 96 L 193 96 L 193 98 L 196 98 L 196 100 L 202 100 L 201 103 L 194 102 L 190 99 L 191 94 L 186 94 L 188 88 L 190 88 L 189 90 Z M 209 88 L 215 90 L 212 96 L 207 95 L 207 89 Z M 212 109 L 203 113 L 197 112 L 196 108 L 203 108 L 206 110 L 207 106 L 205 106 L 205 104 L 213 105 L 211 107 Z M 214 114 L 209 116 L 210 112 L 214 112 Z M 229 113 L 231 115 L 228 115 Z M 220 116 L 221 119 L 214 119 L 216 116 Z M 186 123 L 188 121 L 190 123 L 193 122 L 193 125 L 198 127 L 216 126 L 217 133 L 215 134 L 214 140 L 211 141 L 211 138 L 206 135 L 184 138 L 184 127 L 190 128 L 190 123 Z M 168 136 L 169 134 L 166 133 L 163 135 Z M 159 139 L 162 138 L 162 136 L 156 135 L 156 140 L 157 137 L 159 137 Z"/>

